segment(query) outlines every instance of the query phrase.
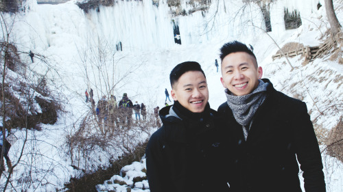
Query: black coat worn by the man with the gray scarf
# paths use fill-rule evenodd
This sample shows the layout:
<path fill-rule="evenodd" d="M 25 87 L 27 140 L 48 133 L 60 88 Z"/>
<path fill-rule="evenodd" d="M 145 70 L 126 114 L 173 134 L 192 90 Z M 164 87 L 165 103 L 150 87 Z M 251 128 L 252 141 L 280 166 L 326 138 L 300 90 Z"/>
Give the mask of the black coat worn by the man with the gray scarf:
<path fill-rule="evenodd" d="M 318 141 L 305 102 L 277 92 L 272 83 L 267 92 L 246 141 L 227 103 L 218 108 L 235 132 L 241 191 L 301 191 L 297 159 L 306 192 L 325 191 Z"/>

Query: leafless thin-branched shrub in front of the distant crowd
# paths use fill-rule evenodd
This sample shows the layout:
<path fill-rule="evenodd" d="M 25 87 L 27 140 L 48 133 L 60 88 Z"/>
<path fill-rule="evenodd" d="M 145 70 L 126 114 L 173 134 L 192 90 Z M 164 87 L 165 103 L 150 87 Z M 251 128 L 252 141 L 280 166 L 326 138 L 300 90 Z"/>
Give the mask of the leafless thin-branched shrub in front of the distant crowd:
<path fill-rule="evenodd" d="M 88 90 L 92 88 L 94 95 L 99 98 L 110 98 L 110 95 L 116 95 L 123 88 L 130 89 L 126 81 L 131 81 L 130 76 L 138 71 L 145 61 L 132 67 L 128 67 L 130 64 L 121 67 L 121 61 L 126 59 L 126 56 L 119 54 L 120 50 L 112 41 L 97 33 L 90 36 L 86 42 L 85 47 L 77 48 Z M 112 118 L 119 118 L 122 113 L 120 109 L 115 111 L 117 117 L 105 112 L 107 119 L 103 122 L 103 118 L 97 118 L 94 109 L 95 106 L 89 107 L 88 111 L 70 127 L 71 130 L 67 131 L 64 150 L 71 160 L 71 166 L 81 173 L 95 170 L 98 154 L 103 154 L 104 161 L 113 161 L 117 159 L 118 154 L 131 153 L 141 142 L 141 135 L 150 135 L 152 128 L 150 120 L 130 127 L 121 122 L 117 124 L 118 121 Z"/>

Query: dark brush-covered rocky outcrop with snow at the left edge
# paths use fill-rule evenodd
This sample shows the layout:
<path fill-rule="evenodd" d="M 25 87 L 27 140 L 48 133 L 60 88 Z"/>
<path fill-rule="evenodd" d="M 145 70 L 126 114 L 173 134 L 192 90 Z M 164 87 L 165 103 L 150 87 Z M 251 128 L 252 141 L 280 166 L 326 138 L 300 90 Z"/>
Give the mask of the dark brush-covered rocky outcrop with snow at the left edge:
<path fill-rule="evenodd" d="M 21 61 L 20 53 L 14 44 L 0 42 L 5 51 L 6 65 L 0 68 L 0 115 L 5 117 L 5 125 L 11 128 L 35 128 L 40 129 L 39 124 L 54 124 L 61 109 L 58 100 L 51 95 L 45 77 L 32 73 L 34 77 L 27 75 L 27 64 Z M 2 83 L 3 82 L 3 83 Z"/>

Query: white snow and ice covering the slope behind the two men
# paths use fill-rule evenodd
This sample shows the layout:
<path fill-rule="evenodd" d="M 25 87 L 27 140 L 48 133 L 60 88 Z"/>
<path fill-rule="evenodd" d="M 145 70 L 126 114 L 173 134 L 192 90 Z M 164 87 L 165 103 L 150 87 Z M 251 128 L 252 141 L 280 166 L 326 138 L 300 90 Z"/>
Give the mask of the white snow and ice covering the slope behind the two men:
<path fill-rule="evenodd" d="M 113 7 L 100 6 L 99 12 L 90 10 L 88 14 L 80 10 L 75 1 L 37 5 L 34 0 L 28 0 L 27 12 L 15 17 L 4 14 L 8 23 L 15 20 L 11 37 L 19 50 L 45 55 L 50 66 L 36 58 L 30 64 L 25 54 L 21 58 L 29 63 L 32 70 L 40 74 L 48 72 L 51 82 L 67 98 L 65 113 L 60 113 L 56 124 L 42 125 L 43 131 L 29 131 L 23 159 L 14 168 L 12 185 L 8 189 L 56 191 L 62 189 L 69 178 L 82 175 L 81 171 L 71 167 L 74 162 L 71 154 L 66 154 L 65 142 L 68 135 L 78 130 L 90 110 L 84 102 L 86 89 L 93 88 L 96 101 L 110 94 L 118 100 L 126 92 L 132 102 L 144 102 L 152 113 L 154 107 L 164 105 L 164 90 L 170 91 L 171 69 L 182 61 L 198 61 L 209 84 L 209 103 L 217 109 L 226 98 L 220 83 L 221 74 L 216 72 L 215 59 L 219 59 L 220 47 L 230 40 L 252 44 L 263 68 L 263 77 L 269 78 L 276 90 L 289 96 L 300 96 L 307 103 L 315 126 L 330 130 L 342 116 L 343 65 L 338 64 L 337 59 L 330 61 L 330 55 L 309 64 L 303 64 L 304 58 L 300 56 L 289 59 L 294 70 L 284 58 L 272 60 L 278 49 L 271 38 L 281 47 L 287 42 L 305 46 L 318 46 L 322 42 L 320 37 L 329 28 L 329 23 L 324 1 L 319 2 L 322 5 L 319 10 L 318 0 L 279 0 L 272 3 L 272 31 L 269 36 L 262 30 L 265 26 L 258 5 L 252 3 L 245 9 L 239 9 L 246 4 L 229 0 L 213 1 L 204 15 L 195 12 L 176 17 L 171 16 L 170 8 L 163 0 L 160 0 L 158 8 L 152 5 L 151 0 L 118 1 Z M 340 23 L 343 23 L 342 4 L 342 0 L 334 1 Z M 185 10 L 190 9 L 185 1 L 182 1 L 182 6 Z M 303 25 L 298 29 L 285 30 L 284 8 L 298 10 Z M 174 43 L 173 22 L 180 27 L 181 45 Z M 119 42 L 123 51 L 116 49 Z M 151 128 L 150 132 L 141 133 L 133 143 L 144 141 L 155 130 Z M 9 155 L 16 162 L 26 133 L 17 130 L 14 134 L 19 139 Z M 93 172 L 97 167 L 108 166 L 109 160 L 117 159 L 122 152 L 96 150 L 91 159 L 80 161 L 78 167 Z M 327 191 L 343 191 L 342 163 L 325 153 L 322 157 Z M 144 159 L 142 164 L 128 165 L 122 170 L 126 176 L 113 176 L 97 189 L 110 191 L 119 187 L 115 180 L 132 184 L 135 176 L 143 176 L 143 167 Z M 4 179 L 1 177 L 1 187 Z M 26 185 L 30 180 L 32 182 Z M 147 183 L 136 182 L 135 186 L 139 191 L 146 189 Z M 125 185 L 119 188 L 126 191 Z"/>

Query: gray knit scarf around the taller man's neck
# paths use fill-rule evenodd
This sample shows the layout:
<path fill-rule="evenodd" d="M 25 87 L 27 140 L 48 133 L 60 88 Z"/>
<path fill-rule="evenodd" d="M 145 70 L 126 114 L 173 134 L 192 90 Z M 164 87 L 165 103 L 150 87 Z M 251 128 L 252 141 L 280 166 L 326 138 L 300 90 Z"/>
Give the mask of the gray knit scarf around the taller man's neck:
<path fill-rule="evenodd" d="M 248 137 L 248 129 L 255 112 L 267 96 L 268 84 L 259 80 L 257 88 L 251 94 L 244 96 L 234 96 L 228 89 L 225 90 L 228 107 L 233 110 L 236 121 L 243 126 L 245 139 Z"/>

